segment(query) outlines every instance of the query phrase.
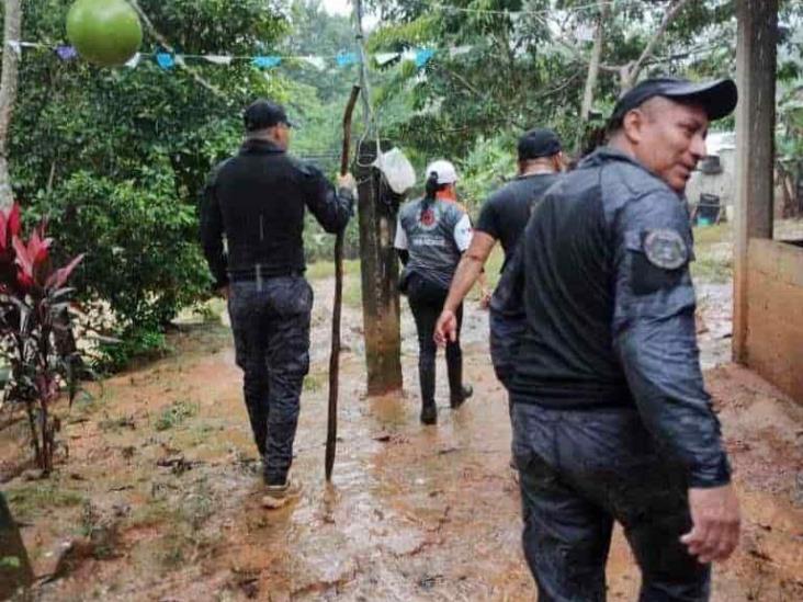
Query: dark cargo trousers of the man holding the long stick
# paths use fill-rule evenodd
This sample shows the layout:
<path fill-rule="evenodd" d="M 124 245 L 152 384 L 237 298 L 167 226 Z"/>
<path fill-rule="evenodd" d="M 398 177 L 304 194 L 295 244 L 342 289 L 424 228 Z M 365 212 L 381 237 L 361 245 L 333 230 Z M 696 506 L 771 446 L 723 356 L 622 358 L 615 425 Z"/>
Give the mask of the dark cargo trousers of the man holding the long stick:
<path fill-rule="evenodd" d="M 304 377 L 313 289 L 301 275 L 231 283 L 228 310 L 242 393 L 268 485 L 284 484 Z"/>

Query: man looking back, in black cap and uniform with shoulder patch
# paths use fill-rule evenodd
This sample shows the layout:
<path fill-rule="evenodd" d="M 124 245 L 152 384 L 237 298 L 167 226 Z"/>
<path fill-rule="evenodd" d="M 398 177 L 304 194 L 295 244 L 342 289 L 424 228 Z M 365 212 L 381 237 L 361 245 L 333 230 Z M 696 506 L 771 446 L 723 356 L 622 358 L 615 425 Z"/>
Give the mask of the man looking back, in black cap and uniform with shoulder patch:
<path fill-rule="evenodd" d="M 613 521 L 640 600 L 708 600 L 738 501 L 703 387 L 686 183 L 731 80 L 647 80 L 522 237 L 528 326 L 510 387 L 524 555 L 539 600 L 606 599 Z"/>

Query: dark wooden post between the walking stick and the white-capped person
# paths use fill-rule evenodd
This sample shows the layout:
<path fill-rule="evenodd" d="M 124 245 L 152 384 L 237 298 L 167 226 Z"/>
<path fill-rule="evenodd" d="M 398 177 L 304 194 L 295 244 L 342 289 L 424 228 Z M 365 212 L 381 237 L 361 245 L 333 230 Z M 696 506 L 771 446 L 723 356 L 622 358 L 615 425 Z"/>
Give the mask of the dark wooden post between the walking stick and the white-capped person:
<path fill-rule="evenodd" d="M 358 149 L 360 182 L 360 272 L 365 332 L 367 394 L 384 395 L 402 388 L 402 331 L 398 295 L 398 259 L 393 248 L 398 201 L 382 184 L 376 143 Z"/>

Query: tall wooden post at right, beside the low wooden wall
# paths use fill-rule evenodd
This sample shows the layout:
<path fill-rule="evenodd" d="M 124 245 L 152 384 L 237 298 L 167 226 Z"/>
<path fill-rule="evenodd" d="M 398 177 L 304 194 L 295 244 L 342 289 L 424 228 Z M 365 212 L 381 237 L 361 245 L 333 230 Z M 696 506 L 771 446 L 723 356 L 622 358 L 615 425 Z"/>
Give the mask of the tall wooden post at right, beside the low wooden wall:
<path fill-rule="evenodd" d="M 733 359 L 746 363 L 748 245 L 772 238 L 778 0 L 738 0 L 737 15 Z"/>

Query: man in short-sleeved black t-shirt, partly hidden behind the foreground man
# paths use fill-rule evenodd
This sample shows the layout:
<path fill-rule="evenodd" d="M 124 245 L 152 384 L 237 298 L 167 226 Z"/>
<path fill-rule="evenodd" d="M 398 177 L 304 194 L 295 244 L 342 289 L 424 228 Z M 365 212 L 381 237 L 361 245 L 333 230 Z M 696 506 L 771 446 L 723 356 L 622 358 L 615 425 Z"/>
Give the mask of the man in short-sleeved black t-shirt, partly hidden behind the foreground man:
<path fill-rule="evenodd" d="M 439 344 L 455 339 L 456 308 L 482 274 L 497 240 L 505 251 L 504 271 L 513 255 L 533 205 L 541 201 L 563 170 L 561 140 L 551 129 L 535 128 L 527 132 L 519 139 L 518 152 L 519 175 L 491 194 L 479 213 L 471 247 L 457 266 L 443 311 L 436 325 L 434 337 Z M 488 299 L 484 302 L 487 303 Z M 518 337 L 514 332 L 507 332 L 506 328 L 508 323 L 516 327 L 518 322 L 495 317 L 491 310 L 491 360 L 497 377 L 507 387 L 512 376 L 510 343 L 514 343 Z"/>

